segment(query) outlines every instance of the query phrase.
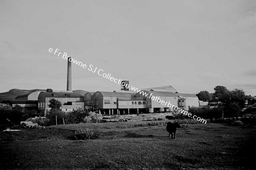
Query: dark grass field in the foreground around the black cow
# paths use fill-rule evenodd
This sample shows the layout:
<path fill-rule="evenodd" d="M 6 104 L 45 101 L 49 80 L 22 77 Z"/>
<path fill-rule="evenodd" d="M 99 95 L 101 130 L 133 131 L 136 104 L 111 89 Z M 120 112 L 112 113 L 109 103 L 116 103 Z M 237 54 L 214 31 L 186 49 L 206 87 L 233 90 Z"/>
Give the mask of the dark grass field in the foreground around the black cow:
<path fill-rule="evenodd" d="M 166 125 L 57 125 L 0 132 L 1 169 L 253 169 L 255 127 L 196 124 L 168 138 Z M 140 122 L 138 122 L 140 123 Z M 92 129 L 96 139 L 71 140 Z"/>

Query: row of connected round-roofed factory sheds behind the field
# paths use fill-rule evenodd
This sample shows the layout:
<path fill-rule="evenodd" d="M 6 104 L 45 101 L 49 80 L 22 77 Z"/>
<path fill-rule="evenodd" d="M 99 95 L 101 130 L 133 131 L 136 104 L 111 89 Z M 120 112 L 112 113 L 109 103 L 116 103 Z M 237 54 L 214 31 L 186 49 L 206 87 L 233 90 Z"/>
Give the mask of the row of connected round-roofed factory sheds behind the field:
<path fill-rule="evenodd" d="M 179 94 L 172 86 L 146 88 L 144 94 L 131 93 L 131 91 L 97 91 L 87 92 L 82 96 L 72 91 L 35 91 L 19 95 L 13 104 L 24 108 L 38 109 L 38 112 L 46 115 L 49 113 L 49 100 L 54 98 L 62 104 L 61 111 L 69 112 L 73 109 L 84 108 L 86 111 L 99 111 L 103 115 L 152 113 L 158 111 L 174 111 L 160 102 L 170 102 L 184 110 L 189 107 L 199 107 L 198 97 L 194 94 Z M 172 91 L 172 92 L 170 92 Z M 175 93 L 174 93 L 175 92 Z M 152 96 L 158 97 L 157 99 Z M 32 100 L 34 99 L 34 100 Z"/>

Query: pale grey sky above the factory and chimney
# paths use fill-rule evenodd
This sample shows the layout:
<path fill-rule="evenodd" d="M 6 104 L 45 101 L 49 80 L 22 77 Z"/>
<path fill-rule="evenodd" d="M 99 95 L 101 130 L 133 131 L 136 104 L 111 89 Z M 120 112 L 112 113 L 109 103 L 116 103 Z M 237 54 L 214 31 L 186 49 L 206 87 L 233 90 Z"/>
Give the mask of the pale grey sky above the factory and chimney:
<path fill-rule="evenodd" d="M 256 95 L 255 0 L 0 0 L 0 92 L 66 90 L 58 48 L 136 88 Z M 72 90 L 120 85 L 72 64 Z"/>

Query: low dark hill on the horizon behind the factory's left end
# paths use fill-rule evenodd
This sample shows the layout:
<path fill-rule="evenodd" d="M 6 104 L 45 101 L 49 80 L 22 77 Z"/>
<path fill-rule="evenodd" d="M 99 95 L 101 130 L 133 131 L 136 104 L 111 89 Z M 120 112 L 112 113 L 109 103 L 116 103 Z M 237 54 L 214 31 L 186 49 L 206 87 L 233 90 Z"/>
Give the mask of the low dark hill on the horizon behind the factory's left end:
<path fill-rule="evenodd" d="M 26 94 L 32 91 L 46 91 L 42 89 L 32 89 L 32 90 L 20 90 L 17 88 L 11 89 L 8 92 L 0 93 L 0 101 L 2 100 L 15 100 L 15 97 L 20 95 L 20 94 Z M 74 93 L 80 93 L 81 95 L 84 96 L 88 91 L 84 90 L 75 90 L 73 91 Z"/>

